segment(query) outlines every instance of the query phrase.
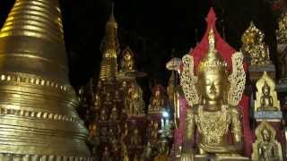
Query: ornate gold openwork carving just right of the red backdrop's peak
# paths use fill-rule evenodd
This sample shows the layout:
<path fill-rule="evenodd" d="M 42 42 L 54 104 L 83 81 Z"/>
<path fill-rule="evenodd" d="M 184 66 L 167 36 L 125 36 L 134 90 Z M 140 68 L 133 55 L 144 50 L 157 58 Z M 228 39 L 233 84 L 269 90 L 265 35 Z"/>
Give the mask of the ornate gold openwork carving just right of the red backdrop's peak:
<path fill-rule="evenodd" d="M 265 34 L 258 30 L 251 21 L 248 30 L 242 35 L 241 51 L 251 59 L 251 66 L 272 64 L 269 57 L 269 48 L 264 42 Z"/>

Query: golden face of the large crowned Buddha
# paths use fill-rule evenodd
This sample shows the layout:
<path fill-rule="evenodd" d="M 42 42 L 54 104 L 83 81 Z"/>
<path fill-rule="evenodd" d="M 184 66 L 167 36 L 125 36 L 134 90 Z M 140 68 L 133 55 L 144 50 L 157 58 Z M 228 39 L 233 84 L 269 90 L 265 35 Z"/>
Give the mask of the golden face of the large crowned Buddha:
<path fill-rule="evenodd" d="M 220 72 L 205 72 L 202 81 L 202 92 L 205 100 L 219 101 L 222 99 L 224 78 Z"/>

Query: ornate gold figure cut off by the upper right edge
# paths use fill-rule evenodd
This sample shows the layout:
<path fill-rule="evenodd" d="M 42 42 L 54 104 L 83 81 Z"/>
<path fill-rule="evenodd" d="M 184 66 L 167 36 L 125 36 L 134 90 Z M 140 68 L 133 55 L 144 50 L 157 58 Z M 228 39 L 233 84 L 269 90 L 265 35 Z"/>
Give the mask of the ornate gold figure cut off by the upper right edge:
<path fill-rule="evenodd" d="M 287 43 L 287 12 L 283 13 L 278 21 L 278 30 L 276 30 L 277 42 Z"/>

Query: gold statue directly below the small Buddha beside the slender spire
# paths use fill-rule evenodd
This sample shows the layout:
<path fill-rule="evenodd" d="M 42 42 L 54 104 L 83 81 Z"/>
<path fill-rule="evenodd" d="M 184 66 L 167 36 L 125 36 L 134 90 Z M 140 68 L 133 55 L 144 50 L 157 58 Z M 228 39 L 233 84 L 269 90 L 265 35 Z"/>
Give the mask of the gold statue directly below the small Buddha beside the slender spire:
<path fill-rule="evenodd" d="M 143 114 L 143 90 L 136 84 L 136 82 L 131 82 L 130 87 L 127 89 L 125 107 L 126 114 L 128 115 Z"/>

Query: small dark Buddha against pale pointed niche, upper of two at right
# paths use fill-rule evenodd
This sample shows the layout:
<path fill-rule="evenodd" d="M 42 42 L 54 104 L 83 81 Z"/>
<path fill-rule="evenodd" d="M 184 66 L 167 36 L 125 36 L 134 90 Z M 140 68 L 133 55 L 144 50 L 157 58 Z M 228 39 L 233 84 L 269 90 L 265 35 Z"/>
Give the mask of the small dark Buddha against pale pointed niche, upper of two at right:
<path fill-rule="evenodd" d="M 255 111 L 280 111 L 280 101 L 275 91 L 275 83 L 267 72 L 257 80 L 257 99 L 255 100 Z"/>

